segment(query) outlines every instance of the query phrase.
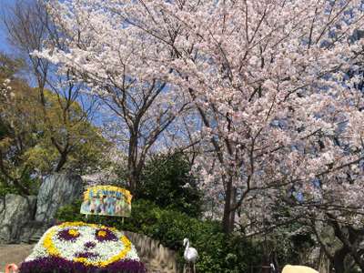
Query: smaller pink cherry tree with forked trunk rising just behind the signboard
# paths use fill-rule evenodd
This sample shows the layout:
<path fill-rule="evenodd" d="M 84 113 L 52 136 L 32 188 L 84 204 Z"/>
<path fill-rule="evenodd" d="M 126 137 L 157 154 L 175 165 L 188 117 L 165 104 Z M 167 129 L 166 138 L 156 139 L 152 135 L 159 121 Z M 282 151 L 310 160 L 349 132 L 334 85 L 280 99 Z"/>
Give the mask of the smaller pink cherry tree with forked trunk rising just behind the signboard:
<path fill-rule="evenodd" d="M 110 20 L 106 10 L 91 15 L 94 5 L 86 4 L 76 1 L 48 5 L 49 14 L 65 34 L 66 47 L 48 46 L 35 56 L 48 57 L 61 65 L 60 74 L 71 70 L 75 80 L 88 86 L 85 93 L 102 100 L 104 112 L 106 108 L 112 114 L 104 115 L 109 118 L 107 134 L 125 149 L 128 183 L 135 190 L 150 149 L 187 109 L 188 100 L 183 93 L 172 92 L 167 67 L 156 70 L 156 61 L 144 56 L 146 50 L 151 50 L 157 60 L 165 54 L 160 45 L 153 41 L 146 45 L 147 35 L 132 40 L 129 36 L 136 33 L 130 34 L 129 29 L 118 25 L 120 22 Z"/>

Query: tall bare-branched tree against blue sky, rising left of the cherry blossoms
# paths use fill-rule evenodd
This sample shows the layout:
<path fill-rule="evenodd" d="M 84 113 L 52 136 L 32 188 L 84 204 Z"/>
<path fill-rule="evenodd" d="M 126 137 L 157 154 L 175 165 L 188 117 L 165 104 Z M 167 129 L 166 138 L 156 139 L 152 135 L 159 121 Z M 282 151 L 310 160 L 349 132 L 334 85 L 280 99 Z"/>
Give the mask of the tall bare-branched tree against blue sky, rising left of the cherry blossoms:
<path fill-rule="evenodd" d="M 16 0 L 4 11 L 9 45 L 24 58 L 31 81 L 36 86 L 37 107 L 42 112 L 42 124 L 49 136 L 47 145 L 52 147 L 47 152 L 52 151 L 52 157 L 57 158 L 53 171 L 62 171 L 68 160 L 74 160 L 71 155 L 84 146 L 85 137 L 75 137 L 75 133 L 82 135 L 85 131 L 83 127 L 92 116 L 95 102 L 81 96 L 82 86 L 73 80 L 71 70 L 57 75 L 56 66 L 32 54 L 35 50 L 42 50 L 45 43 L 48 46 L 64 46 L 64 34 L 56 29 L 45 3 Z M 49 104 L 52 106 L 49 107 Z M 52 111 L 55 108 L 56 115 Z"/>

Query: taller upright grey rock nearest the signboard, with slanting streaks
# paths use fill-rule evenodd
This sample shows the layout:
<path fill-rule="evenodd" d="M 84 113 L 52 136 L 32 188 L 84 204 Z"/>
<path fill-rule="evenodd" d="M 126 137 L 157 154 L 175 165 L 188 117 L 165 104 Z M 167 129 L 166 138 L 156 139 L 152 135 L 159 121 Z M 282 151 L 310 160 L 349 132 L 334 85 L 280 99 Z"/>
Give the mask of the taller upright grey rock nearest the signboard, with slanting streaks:
<path fill-rule="evenodd" d="M 82 179 L 69 174 L 54 174 L 46 177 L 39 188 L 35 221 L 52 222 L 59 207 L 80 198 Z"/>

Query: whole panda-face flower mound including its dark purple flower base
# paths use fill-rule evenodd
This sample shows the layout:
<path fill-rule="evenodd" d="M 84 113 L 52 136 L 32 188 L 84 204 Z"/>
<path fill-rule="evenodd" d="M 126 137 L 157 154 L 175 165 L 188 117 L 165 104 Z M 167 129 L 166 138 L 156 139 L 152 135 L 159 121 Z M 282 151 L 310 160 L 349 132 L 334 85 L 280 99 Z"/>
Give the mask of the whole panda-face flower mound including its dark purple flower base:
<path fill-rule="evenodd" d="M 136 248 L 116 228 L 66 222 L 45 232 L 20 272 L 144 273 L 146 269 Z"/>

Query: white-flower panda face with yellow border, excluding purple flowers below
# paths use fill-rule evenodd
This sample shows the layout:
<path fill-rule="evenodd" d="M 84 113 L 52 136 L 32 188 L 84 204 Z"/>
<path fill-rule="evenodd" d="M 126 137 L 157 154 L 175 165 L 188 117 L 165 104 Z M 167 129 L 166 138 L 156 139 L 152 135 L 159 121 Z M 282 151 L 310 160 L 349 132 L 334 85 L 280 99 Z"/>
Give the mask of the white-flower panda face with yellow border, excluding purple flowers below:
<path fill-rule="evenodd" d="M 64 258 L 97 268 L 122 260 L 139 261 L 134 246 L 116 228 L 82 222 L 49 228 L 25 261 L 45 257 Z"/>

